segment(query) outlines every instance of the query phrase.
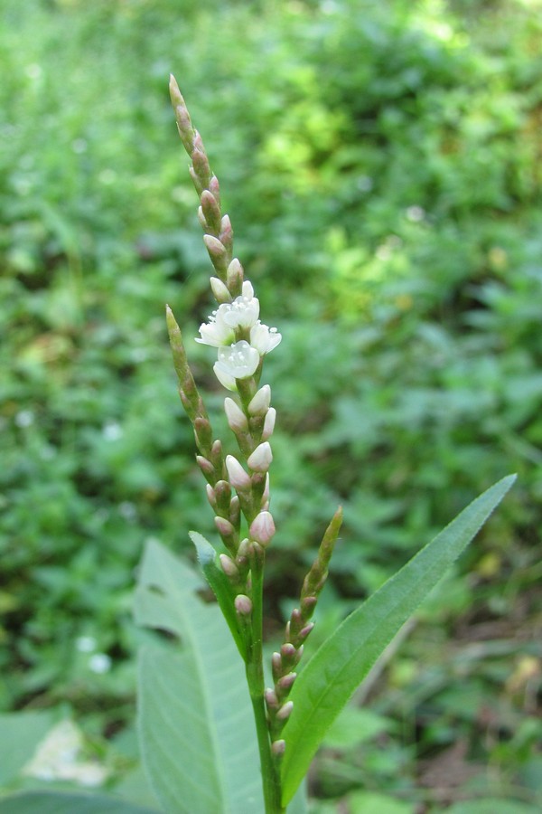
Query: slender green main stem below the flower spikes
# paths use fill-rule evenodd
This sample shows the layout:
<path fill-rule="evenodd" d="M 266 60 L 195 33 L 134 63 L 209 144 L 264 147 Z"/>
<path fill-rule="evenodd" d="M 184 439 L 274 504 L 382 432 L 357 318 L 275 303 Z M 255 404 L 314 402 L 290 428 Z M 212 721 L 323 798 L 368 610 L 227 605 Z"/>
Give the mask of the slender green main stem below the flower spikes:
<path fill-rule="evenodd" d="M 257 744 L 262 770 L 266 814 L 285 814 L 281 805 L 280 776 L 271 752 L 264 699 L 264 666 L 262 653 L 263 559 L 253 558 L 252 567 L 252 640 L 248 648 L 247 682 L 254 710 Z"/>

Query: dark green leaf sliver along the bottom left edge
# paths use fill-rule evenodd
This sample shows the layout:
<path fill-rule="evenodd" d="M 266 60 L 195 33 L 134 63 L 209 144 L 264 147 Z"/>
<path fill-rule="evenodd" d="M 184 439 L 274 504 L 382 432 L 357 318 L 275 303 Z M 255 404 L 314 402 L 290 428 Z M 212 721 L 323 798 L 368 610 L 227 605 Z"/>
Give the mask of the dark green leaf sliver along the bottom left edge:
<path fill-rule="evenodd" d="M 0 814 L 158 814 L 103 794 L 26 791 L 0 800 Z"/>

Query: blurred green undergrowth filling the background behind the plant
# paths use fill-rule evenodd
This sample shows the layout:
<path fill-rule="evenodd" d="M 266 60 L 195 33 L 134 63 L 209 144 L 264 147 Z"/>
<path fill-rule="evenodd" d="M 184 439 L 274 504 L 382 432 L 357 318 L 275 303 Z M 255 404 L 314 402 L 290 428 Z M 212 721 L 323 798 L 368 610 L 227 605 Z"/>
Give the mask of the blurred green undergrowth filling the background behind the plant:
<path fill-rule="evenodd" d="M 217 416 L 223 398 L 191 341 L 210 264 L 173 71 L 284 336 L 270 642 L 338 503 L 314 644 L 519 473 L 330 734 L 312 810 L 538 811 L 542 2 L 0 10 L 0 711 L 25 710 L 31 741 L 70 715 L 107 783 L 145 796 L 136 563 L 149 537 L 192 556 L 188 530 L 212 535 L 166 301 Z"/>

